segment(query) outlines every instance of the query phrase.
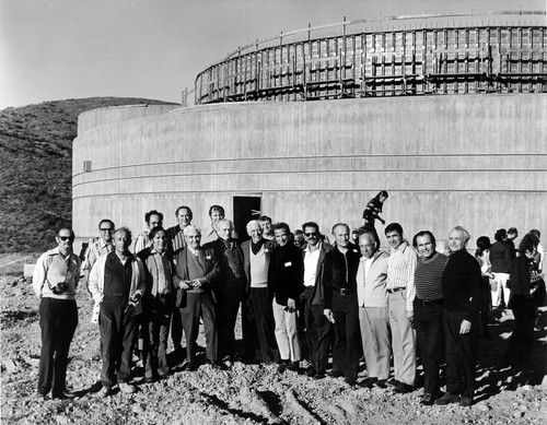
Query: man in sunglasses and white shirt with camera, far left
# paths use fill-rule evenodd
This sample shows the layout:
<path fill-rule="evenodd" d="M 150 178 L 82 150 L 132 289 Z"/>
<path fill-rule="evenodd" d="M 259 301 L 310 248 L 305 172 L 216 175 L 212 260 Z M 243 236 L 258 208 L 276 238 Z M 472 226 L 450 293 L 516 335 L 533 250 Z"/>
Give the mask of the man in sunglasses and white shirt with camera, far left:
<path fill-rule="evenodd" d="M 72 252 L 72 229 L 59 229 L 55 239 L 57 248 L 42 255 L 33 273 L 33 288 L 40 299 L 38 396 L 45 398 L 51 390 L 54 399 L 68 399 L 74 397 L 67 390 L 66 378 L 70 343 L 78 326 L 74 296 L 81 261 Z"/>

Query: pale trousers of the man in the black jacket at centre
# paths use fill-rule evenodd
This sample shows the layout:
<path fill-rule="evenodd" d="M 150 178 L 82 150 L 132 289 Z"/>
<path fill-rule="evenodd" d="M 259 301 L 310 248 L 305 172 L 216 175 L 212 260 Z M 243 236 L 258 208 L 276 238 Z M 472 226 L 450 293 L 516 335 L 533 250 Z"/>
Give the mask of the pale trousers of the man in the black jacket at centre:
<path fill-rule="evenodd" d="M 296 334 L 296 311 L 286 311 L 274 299 L 274 320 L 276 321 L 276 341 L 279 349 L 279 357 L 282 361 L 300 362 L 300 343 Z"/>

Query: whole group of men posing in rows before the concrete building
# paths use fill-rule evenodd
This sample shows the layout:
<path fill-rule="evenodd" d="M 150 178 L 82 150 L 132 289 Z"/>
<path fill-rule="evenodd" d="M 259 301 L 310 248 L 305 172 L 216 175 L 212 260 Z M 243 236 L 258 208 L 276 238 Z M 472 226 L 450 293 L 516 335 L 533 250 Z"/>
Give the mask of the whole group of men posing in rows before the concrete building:
<path fill-rule="evenodd" d="M 152 210 L 133 245 L 128 228 L 116 229 L 110 220 L 98 224 L 100 239 L 89 247 L 82 270 L 98 310 L 101 396 L 110 394 L 116 383 L 120 391 L 136 391 L 129 381 L 137 340 L 146 380 L 165 378 L 170 330 L 174 350 L 181 350 L 184 330 L 185 370 L 196 370 L 201 320 L 207 362 L 214 368 L 252 359 L 256 352 L 266 364 L 277 362 L 279 373 L 300 370 L 307 352 L 311 366 L 302 371 L 314 379 L 344 377 L 349 386 L 391 386 L 398 393 L 416 389 L 418 340 L 421 403 L 473 403 L 480 269 L 465 249 L 465 228 L 450 232 L 446 257 L 435 251 L 431 232 L 417 234 L 410 246 L 398 223 L 385 227 L 389 250 L 381 251 L 370 225 L 358 229 L 354 245 L 349 226 L 335 224 L 330 245 L 314 222 L 292 234 L 288 224 L 271 226 L 265 216 L 247 224 L 249 239 L 240 244 L 222 206 L 211 206 L 209 215 L 211 227 L 201 232 L 191 224 L 191 210 L 181 206 L 177 225 L 164 229 L 163 214 Z M 42 299 L 38 393 L 44 397 L 50 390 L 53 397 L 70 397 L 65 377 L 81 267 L 73 239 L 71 229 L 61 228 L 58 247 L 40 257 L 33 276 Z M 237 353 L 240 308 L 243 352 Z M 299 340 L 301 314 L 307 350 Z M 366 378 L 358 382 L 361 353 Z"/>

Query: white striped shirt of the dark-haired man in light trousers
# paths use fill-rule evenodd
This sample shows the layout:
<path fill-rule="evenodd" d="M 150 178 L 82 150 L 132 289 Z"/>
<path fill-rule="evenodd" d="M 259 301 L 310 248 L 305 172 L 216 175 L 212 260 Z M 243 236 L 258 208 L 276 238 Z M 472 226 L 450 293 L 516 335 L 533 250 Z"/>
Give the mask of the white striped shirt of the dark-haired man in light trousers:
<path fill-rule="evenodd" d="M 416 270 L 416 252 L 405 239 L 397 248 L 389 248 L 387 259 L 387 290 L 403 287 L 407 290 L 406 310 L 414 310 L 416 287 L 414 273 Z"/>

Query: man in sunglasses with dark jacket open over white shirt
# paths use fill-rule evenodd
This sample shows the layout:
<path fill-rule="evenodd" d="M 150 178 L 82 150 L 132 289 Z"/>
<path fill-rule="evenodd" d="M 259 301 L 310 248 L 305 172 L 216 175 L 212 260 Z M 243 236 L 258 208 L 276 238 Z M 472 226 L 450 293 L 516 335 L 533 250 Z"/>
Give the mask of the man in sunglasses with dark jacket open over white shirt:
<path fill-rule="evenodd" d="M 312 364 L 307 376 L 322 379 L 325 377 L 330 345 L 330 322 L 323 314 L 325 308 L 323 267 L 325 255 L 330 252 L 333 246 L 321 240 L 317 223 L 304 223 L 302 231 L 306 241 L 306 248 L 303 252 L 304 292 L 302 298 Z"/>

